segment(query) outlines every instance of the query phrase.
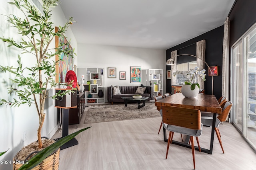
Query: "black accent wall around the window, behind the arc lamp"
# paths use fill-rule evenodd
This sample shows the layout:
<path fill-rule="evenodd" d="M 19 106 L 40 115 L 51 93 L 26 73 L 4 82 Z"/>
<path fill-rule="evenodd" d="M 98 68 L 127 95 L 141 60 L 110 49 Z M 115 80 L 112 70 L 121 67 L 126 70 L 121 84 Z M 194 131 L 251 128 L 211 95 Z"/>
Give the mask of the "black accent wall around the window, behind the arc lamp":
<path fill-rule="evenodd" d="M 216 98 L 221 97 L 221 88 L 222 88 L 221 72 L 222 72 L 223 33 L 224 33 L 224 25 L 166 50 L 166 61 L 170 59 L 171 52 L 174 50 L 177 50 L 177 55 L 179 54 L 196 55 L 196 42 L 201 41 L 202 39 L 205 39 L 206 40 L 205 62 L 209 66 L 218 66 L 218 76 L 213 77 L 214 78 L 214 95 L 216 96 Z M 182 57 L 183 56 L 178 56 L 177 60 L 181 60 Z M 170 65 L 166 65 L 166 70 L 170 70 Z M 205 94 L 212 94 L 212 78 L 208 76 L 208 67 L 206 65 L 205 65 L 205 70 L 207 74 L 206 81 L 204 82 L 204 86 L 205 86 L 204 89 L 206 90 Z M 171 92 L 171 84 L 172 84 L 171 80 L 166 80 L 166 93 Z"/>

